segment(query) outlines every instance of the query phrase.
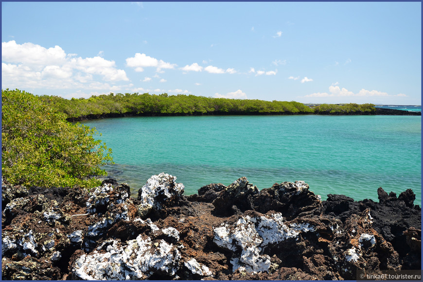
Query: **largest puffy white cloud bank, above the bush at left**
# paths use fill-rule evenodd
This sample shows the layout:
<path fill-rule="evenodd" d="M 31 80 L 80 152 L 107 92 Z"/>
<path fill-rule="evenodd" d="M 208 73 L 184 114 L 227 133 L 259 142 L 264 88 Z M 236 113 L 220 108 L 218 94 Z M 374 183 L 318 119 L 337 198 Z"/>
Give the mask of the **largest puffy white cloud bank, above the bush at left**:
<path fill-rule="evenodd" d="M 30 42 L 2 42 L 2 87 L 4 88 L 88 88 L 99 75 L 104 81 L 128 81 L 114 61 L 99 56 L 82 58 L 59 47 L 45 48 Z M 110 88 L 107 83 L 102 88 Z M 97 86 L 98 87 L 98 86 Z"/>

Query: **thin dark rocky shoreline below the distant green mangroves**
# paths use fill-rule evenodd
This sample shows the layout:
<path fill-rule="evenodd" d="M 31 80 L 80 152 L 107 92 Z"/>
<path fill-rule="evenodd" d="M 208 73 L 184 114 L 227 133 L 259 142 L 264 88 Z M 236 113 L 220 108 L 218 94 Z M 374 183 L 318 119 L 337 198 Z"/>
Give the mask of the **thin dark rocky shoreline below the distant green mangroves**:
<path fill-rule="evenodd" d="M 422 112 L 412 112 L 398 109 L 387 109 L 387 108 L 378 108 L 375 107 L 374 112 L 350 112 L 350 113 L 330 113 L 330 112 L 319 112 L 319 113 L 310 113 L 310 112 L 280 112 L 280 113 L 260 113 L 260 112 L 213 112 L 212 114 L 202 114 L 202 113 L 193 113 L 193 114 L 163 114 L 163 113 L 137 113 L 137 112 L 126 112 L 126 113 L 106 113 L 106 114 L 90 114 L 80 117 L 71 117 L 67 118 L 68 122 L 80 122 L 86 120 L 95 120 L 95 119 L 104 119 L 104 118 L 122 118 L 122 117 L 154 117 L 154 116 L 214 116 L 214 115 L 395 115 L 395 116 L 421 116 Z"/>

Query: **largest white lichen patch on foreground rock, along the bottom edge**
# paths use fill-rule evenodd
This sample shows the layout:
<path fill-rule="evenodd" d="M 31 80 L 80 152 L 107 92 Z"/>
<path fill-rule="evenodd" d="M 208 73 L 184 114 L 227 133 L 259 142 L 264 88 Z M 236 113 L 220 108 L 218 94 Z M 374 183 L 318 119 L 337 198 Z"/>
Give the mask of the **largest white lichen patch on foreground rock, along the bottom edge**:
<path fill-rule="evenodd" d="M 84 280 L 140 280 L 148 279 L 155 272 L 176 274 L 181 255 L 177 247 L 163 240 L 151 242 L 139 235 L 119 247 L 113 240 L 106 247 L 106 253 L 95 250 L 82 255 L 72 265 L 72 274 Z"/>

